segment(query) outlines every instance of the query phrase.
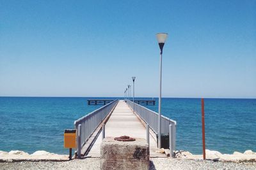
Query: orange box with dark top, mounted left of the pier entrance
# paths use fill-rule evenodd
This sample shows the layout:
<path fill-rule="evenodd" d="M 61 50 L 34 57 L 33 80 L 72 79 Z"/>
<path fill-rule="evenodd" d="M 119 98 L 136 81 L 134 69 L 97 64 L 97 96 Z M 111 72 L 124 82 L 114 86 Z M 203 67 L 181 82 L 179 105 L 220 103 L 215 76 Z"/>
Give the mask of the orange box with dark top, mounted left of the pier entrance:
<path fill-rule="evenodd" d="M 76 148 L 76 129 L 64 131 L 64 148 Z"/>

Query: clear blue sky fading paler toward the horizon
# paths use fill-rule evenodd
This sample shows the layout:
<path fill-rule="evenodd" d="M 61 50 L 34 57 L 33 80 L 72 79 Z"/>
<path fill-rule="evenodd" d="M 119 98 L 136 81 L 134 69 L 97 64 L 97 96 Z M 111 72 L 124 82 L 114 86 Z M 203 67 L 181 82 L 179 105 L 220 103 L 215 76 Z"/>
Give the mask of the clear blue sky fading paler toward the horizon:
<path fill-rule="evenodd" d="M 256 97 L 256 1 L 0 1 L 0 96 Z"/>

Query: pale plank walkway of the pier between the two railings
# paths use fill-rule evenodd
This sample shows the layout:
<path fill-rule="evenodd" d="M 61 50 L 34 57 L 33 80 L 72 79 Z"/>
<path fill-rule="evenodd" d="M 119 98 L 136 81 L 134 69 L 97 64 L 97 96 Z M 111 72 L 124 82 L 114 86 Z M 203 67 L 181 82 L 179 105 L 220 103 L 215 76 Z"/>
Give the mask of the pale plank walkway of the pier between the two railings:
<path fill-rule="evenodd" d="M 105 126 L 106 137 L 130 136 L 132 138 L 147 139 L 146 127 L 141 122 L 125 101 L 119 101 L 109 117 Z M 102 134 L 96 137 L 95 142 L 88 152 L 88 157 L 100 157 L 100 143 L 102 141 Z M 164 153 L 157 153 L 157 142 L 153 132 L 150 133 L 150 157 L 166 157 Z"/>

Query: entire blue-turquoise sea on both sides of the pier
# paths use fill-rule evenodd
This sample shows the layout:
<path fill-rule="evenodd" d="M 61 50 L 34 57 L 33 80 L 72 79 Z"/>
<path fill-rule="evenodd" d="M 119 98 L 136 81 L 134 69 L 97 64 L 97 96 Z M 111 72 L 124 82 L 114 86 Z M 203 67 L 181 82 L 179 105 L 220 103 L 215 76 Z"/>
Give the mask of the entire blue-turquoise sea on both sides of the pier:
<path fill-rule="evenodd" d="M 92 97 L 0 97 L 0 150 L 67 154 L 64 129 L 100 107 L 88 106 L 87 99 Z M 177 121 L 177 149 L 201 153 L 200 99 L 163 98 L 162 103 L 163 115 Z M 157 103 L 146 107 L 158 110 Z M 205 99 L 206 148 L 256 151 L 255 122 L 256 99 Z"/>

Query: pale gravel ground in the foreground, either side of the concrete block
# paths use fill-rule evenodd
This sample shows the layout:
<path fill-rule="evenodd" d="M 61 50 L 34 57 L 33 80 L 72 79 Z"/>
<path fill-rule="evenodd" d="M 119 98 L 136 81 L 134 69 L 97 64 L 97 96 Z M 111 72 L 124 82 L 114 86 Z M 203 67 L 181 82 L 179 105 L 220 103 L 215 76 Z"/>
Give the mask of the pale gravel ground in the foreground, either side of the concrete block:
<path fill-rule="evenodd" d="M 87 158 L 65 162 L 3 162 L 0 169 L 100 169 L 100 159 Z M 212 160 L 170 158 L 150 159 L 150 169 L 256 169 L 256 162 L 232 163 Z"/>

